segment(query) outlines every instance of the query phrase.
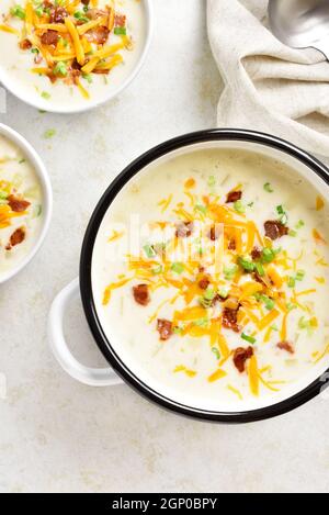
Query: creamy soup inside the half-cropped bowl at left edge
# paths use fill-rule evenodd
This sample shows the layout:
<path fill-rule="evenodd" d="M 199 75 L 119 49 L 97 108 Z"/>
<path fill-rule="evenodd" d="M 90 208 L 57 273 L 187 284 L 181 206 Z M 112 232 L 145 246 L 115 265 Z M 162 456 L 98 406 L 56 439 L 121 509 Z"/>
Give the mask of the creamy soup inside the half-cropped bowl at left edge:
<path fill-rule="evenodd" d="M 42 211 L 42 190 L 32 165 L 0 135 L 0 279 L 32 249 Z"/>

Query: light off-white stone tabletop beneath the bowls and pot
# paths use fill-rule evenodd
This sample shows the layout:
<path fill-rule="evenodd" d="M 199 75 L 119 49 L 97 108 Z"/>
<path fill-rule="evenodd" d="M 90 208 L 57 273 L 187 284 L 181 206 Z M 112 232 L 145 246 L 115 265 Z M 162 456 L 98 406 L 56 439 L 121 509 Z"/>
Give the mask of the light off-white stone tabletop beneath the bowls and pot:
<path fill-rule="evenodd" d="M 120 99 L 59 116 L 9 96 L 0 116 L 39 152 L 55 194 L 42 251 L 1 286 L 8 395 L 0 401 L 0 491 L 328 492 L 328 401 L 248 426 L 204 424 L 167 413 L 126 385 L 81 385 L 49 351 L 52 300 L 78 273 L 83 232 L 106 186 L 152 145 L 215 125 L 222 83 L 207 45 L 205 0 L 154 4 L 150 54 Z M 43 137 L 48 128 L 57 132 L 52 141 Z M 78 302 L 68 318 L 77 355 L 103 363 Z"/>

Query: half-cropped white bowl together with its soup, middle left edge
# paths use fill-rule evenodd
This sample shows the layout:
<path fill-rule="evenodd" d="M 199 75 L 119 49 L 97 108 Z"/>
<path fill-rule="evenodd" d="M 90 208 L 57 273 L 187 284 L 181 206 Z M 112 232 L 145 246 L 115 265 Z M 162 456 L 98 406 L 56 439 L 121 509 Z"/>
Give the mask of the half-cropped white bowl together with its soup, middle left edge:
<path fill-rule="evenodd" d="M 0 283 L 35 255 L 52 214 L 52 188 L 35 150 L 0 124 Z"/>

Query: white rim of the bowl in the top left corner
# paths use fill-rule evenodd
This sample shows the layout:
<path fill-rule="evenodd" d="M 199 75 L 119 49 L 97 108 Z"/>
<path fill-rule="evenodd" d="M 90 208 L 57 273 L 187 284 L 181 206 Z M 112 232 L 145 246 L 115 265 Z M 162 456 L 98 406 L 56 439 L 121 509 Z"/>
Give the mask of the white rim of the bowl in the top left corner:
<path fill-rule="evenodd" d="M 144 4 L 145 10 L 145 42 L 143 51 L 140 52 L 140 56 L 136 61 L 132 72 L 126 77 L 126 79 L 117 86 L 116 89 L 109 88 L 109 93 L 104 94 L 101 100 L 99 99 L 89 99 L 88 102 L 84 104 L 72 104 L 66 103 L 65 105 L 54 105 L 52 104 L 52 100 L 44 100 L 42 97 L 34 97 L 26 94 L 23 88 L 16 86 L 16 82 L 10 80 L 10 74 L 5 72 L 1 69 L 0 63 L 0 82 L 4 86 L 4 88 L 15 96 L 18 99 L 22 100 L 23 102 L 36 108 L 38 110 L 45 110 L 49 113 L 60 113 L 60 114 L 73 114 L 73 113 L 82 113 L 86 111 L 90 111 L 91 109 L 98 108 L 106 103 L 109 100 L 117 97 L 129 83 L 135 79 L 135 77 L 140 71 L 146 55 L 148 53 L 151 35 L 152 35 L 152 27 L 154 27 L 154 14 L 152 14 L 152 3 L 151 0 L 140 0 Z"/>

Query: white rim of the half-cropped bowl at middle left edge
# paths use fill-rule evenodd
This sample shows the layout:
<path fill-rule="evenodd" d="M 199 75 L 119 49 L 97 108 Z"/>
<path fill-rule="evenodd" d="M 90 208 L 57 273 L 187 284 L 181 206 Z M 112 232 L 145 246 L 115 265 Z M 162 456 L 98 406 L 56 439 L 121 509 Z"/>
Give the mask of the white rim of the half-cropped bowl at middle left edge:
<path fill-rule="evenodd" d="M 0 135 L 7 137 L 9 141 L 14 143 L 22 150 L 22 154 L 24 154 L 26 159 L 30 160 L 39 181 L 43 194 L 43 225 L 38 238 L 36 239 L 33 247 L 30 249 L 30 251 L 26 254 L 25 258 L 22 259 L 15 267 L 8 270 L 7 273 L 0 277 L 0 284 L 2 284 L 3 282 L 14 277 L 16 273 L 19 273 L 24 267 L 26 267 L 26 265 L 34 258 L 34 256 L 41 248 L 50 224 L 53 212 L 53 190 L 45 165 L 34 150 L 34 148 L 30 145 L 30 143 L 27 143 L 26 139 L 24 139 L 24 137 L 21 136 L 13 128 L 10 128 L 9 126 L 3 125 L 2 123 L 0 123 Z"/>

